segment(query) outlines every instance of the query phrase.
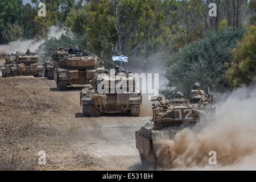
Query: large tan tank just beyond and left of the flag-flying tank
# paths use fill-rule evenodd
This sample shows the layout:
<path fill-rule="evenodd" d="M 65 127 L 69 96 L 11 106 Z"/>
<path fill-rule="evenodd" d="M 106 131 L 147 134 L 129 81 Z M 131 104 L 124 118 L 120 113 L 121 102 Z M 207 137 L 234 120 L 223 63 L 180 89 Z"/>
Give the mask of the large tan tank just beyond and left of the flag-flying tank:
<path fill-rule="evenodd" d="M 59 90 L 66 90 L 73 84 L 89 84 L 96 73 L 104 72 L 104 61 L 91 52 L 64 56 L 55 63 L 54 79 Z"/>

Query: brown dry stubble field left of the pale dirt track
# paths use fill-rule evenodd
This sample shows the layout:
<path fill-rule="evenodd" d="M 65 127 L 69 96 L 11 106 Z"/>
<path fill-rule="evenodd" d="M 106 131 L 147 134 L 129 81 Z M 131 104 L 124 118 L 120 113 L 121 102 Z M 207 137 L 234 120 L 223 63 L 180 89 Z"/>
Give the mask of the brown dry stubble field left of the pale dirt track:
<path fill-rule="evenodd" d="M 67 114 L 67 104 L 56 92 L 49 90 L 54 86 L 55 82 L 44 78 L 0 78 L 0 170 L 92 169 L 93 159 L 86 151 L 67 143 L 72 123 L 63 120 L 73 115 Z M 38 165 L 42 150 L 47 154 L 46 166 Z"/>

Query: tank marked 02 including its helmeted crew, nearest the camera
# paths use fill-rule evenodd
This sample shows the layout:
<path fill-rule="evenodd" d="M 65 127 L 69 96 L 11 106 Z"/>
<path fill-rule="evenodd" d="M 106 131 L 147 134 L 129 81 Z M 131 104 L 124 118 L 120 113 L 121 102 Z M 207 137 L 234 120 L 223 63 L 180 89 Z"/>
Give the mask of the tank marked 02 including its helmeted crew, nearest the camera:
<path fill-rule="evenodd" d="M 216 107 L 214 96 L 210 92 L 205 94 L 202 91 L 199 87 L 193 88 L 191 91 L 193 102 L 178 97 L 171 101 L 163 101 L 160 98 L 158 102 L 152 104 L 151 121 L 135 132 L 136 147 L 144 167 L 157 169 L 162 166 L 155 155 L 159 140 L 172 140 L 179 131 L 196 126 L 207 115 L 208 119 L 213 117 Z M 195 96 L 197 102 L 194 100 Z"/>

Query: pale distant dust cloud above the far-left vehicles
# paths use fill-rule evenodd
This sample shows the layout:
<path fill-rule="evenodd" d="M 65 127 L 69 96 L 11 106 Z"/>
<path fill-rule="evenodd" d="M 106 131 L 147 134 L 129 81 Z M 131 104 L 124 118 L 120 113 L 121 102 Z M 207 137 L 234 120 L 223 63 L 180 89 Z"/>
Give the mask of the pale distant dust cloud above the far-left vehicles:
<path fill-rule="evenodd" d="M 57 38 L 59 39 L 62 34 L 65 34 L 64 28 L 58 26 L 51 26 L 48 31 L 47 38 Z M 26 52 L 27 49 L 30 49 L 31 52 L 35 52 L 36 49 L 43 44 L 45 40 L 16 40 L 11 42 L 7 45 L 0 45 L 0 53 L 7 54 L 7 53 L 15 53 L 16 51 L 19 52 Z"/>

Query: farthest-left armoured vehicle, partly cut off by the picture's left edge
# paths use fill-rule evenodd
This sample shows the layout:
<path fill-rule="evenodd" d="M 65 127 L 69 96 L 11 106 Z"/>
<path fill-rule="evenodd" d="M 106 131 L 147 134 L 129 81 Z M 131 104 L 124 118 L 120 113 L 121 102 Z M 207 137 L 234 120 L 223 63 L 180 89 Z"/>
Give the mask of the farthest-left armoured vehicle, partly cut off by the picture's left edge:
<path fill-rule="evenodd" d="M 16 64 L 14 64 L 14 59 L 15 55 L 13 53 L 6 56 L 5 63 L 1 64 L 2 77 L 18 75 L 18 67 Z"/>

